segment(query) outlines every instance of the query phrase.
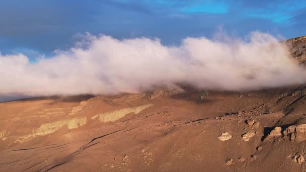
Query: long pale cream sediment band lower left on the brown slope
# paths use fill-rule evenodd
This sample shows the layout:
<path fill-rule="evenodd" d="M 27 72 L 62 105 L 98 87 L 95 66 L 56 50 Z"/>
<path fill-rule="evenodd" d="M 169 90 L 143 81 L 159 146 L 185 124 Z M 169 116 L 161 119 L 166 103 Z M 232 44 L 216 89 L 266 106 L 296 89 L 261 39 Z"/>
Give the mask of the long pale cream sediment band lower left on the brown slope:
<path fill-rule="evenodd" d="M 54 133 L 55 131 L 61 129 L 65 125 L 67 125 L 68 129 L 75 129 L 85 125 L 86 122 L 87 122 L 87 117 L 81 117 L 81 118 L 72 118 L 71 120 L 45 123 L 42 124 L 39 128 L 33 129 L 32 133 L 19 137 L 17 140 L 15 140 L 15 143 L 16 142 L 21 143 L 24 141 L 31 140 L 33 137 L 36 136 L 44 136 Z"/>

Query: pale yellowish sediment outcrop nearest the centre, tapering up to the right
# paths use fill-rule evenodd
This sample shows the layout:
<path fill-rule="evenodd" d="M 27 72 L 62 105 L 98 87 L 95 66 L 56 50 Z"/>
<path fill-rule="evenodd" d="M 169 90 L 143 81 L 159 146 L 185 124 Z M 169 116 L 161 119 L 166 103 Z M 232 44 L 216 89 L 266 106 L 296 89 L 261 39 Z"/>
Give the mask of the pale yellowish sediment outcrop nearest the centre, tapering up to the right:
<path fill-rule="evenodd" d="M 114 122 L 114 121 L 119 120 L 120 118 L 123 118 L 125 115 L 127 115 L 129 113 L 138 114 L 142 110 L 144 110 L 146 108 L 149 108 L 153 105 L 154 104 L 147 104 L 147 105 L 142 105 L 142 106 L 138 106 L 138 107 L 134 107 L 134 108 L 125 108 L 125 109 L 120 109 L 120 110 L 107 112 L 107 113 L 103 113 L 103 114 L 97 114 L 97 115 L 93 116 L 91 119 L 96 119 L 96 118 L 99 117 L 99 120 L 101 122 L 109 122 L 109 121 Z"/>

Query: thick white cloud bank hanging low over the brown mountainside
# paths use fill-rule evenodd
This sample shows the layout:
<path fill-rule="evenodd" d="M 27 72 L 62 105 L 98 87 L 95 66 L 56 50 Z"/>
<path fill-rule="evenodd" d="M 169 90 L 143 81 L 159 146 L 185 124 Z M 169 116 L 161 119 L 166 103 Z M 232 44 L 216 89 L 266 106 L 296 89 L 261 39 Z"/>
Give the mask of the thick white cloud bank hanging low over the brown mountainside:
<path fill-rule="evenodd" d="M 180 46 L 87 34 L 55 54 L 35 64 L 23 54 L 0 55 L 0 95 L 137 93 L 180 84 L 243 91 L 306 82 L 306 70 L 288 48 L 258 32 L 247 41 L 219 33 L 212 40 L 186 38 Z"/>

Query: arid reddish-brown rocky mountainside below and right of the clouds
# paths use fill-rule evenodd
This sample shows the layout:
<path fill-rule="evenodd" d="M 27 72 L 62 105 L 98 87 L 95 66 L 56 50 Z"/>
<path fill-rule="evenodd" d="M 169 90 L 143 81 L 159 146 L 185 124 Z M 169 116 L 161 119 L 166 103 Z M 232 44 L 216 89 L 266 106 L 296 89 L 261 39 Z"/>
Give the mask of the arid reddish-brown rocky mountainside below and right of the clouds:
<path fill-rule="evenodd" d="M 289 42 L 304 63 L 305 38 Z M 306 170 L 304 85 L 206 92 L 0 103 L 0 171 Z"/>

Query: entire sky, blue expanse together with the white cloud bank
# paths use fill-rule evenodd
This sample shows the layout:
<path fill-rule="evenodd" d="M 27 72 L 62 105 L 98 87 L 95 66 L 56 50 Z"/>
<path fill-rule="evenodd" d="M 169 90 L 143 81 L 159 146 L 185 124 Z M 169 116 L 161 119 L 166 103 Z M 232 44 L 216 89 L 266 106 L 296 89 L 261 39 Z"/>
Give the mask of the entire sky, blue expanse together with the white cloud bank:
<path fill-rule="evenodd" d="M 0 102 L 306 83 L 306 1 L 0 0 Z"/>

